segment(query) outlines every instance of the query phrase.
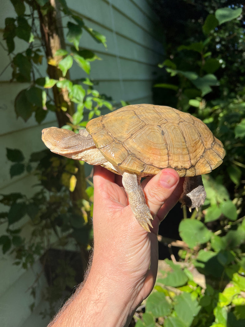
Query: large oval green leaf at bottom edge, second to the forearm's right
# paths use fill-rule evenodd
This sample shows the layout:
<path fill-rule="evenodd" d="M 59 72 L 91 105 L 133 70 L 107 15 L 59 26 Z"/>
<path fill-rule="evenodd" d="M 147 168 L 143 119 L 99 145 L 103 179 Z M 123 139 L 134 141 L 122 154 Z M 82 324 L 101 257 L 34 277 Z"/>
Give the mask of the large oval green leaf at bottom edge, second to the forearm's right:
<path fill-rule="evenodd" d="M 193 300 L 190 293 L 182 293 L 175 297 L 174 310 L 179 319 L 187 326 L 190 326 L 194 317 L 198 314 L 201 307 L 197 300 Z"/>

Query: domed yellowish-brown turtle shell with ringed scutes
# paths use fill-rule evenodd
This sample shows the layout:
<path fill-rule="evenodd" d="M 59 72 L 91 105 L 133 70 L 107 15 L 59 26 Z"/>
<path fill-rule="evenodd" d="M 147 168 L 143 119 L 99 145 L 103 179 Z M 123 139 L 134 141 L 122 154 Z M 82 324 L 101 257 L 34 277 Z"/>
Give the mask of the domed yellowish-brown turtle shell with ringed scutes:
<path fill-rule="evenodd" d="M 144 176 L 163 168 L 180 177 L 206 174 L 225 155 L 200 119 L 171 107 L 129 105 L 90 120 L 86 128 L 110 163 Z"/>

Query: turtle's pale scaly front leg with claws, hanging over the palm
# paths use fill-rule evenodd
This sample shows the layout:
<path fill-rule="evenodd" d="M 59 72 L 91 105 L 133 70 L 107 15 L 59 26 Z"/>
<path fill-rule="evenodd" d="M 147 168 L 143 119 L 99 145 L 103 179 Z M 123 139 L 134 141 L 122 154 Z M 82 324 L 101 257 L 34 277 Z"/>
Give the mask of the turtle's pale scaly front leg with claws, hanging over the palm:
<path fill-rule="evenodd" d="M 153 217 L 146 204 L 140 179 L 141 177 L 137 176 L 137 174 L 124 172 L 122 182 L 123 187 L 127 192 L 128 202 L 130 203 L 135 218 L 147 232 L 150 232 L 148 225 L 152 227 L 151 219 L 153 219 Z"/>

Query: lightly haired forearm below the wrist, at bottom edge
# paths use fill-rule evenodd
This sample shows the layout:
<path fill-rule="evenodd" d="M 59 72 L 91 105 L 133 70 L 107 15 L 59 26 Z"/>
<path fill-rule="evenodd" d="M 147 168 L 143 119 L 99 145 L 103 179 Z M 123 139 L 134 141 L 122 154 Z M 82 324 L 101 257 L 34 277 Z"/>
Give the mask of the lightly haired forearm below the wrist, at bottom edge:
<path fill-rule="evenodd" d="M 49 327 L 128 326 L 139 305 L 137 287 L 103 276 L 96 267 Z M 138 300 L 138 301 L 137 301 Z"/>

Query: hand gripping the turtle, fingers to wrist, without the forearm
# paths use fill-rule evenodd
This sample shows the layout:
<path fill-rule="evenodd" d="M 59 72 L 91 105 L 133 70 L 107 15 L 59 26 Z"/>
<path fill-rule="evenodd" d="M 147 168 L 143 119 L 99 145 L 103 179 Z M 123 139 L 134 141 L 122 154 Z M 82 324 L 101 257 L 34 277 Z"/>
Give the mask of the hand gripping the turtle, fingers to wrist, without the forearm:
<path fill-rule="evenodd" d="M 148 233 L 139 225 L 128 205 L 122 177 L 101 166 L 94 167 L 91 273 L 94 268 L 106 282 L 115 285 L 113 287 L 118 293 L 121 290 L 127 297 L 125 302 L 134 299 L 132 305 L 135 308 L 150 294 L 155 284 L 158 226 L 180 198 L 183 180 L 179 182 L 175 170 L 164 169 L 142 182 L 147 205 L 155 217 L 153 229 Z"/>

